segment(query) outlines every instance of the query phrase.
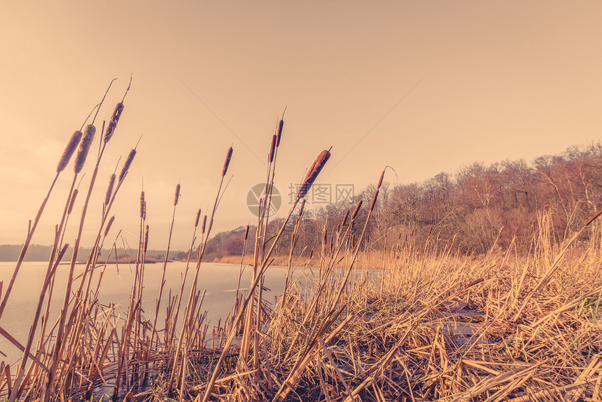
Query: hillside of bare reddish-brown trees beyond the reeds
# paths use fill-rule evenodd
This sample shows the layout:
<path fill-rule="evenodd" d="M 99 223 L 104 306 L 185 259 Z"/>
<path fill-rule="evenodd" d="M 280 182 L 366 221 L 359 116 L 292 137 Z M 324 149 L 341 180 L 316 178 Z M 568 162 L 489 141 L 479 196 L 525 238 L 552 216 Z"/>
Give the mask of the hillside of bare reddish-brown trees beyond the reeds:
<path fill-rule="evenodd" d="M 395 161 L 387 162 L 395 165 Z M 374 172 L 375 181 L 378 174 Z M 358 238 L 373 193 L 374 187 L 369 186 L 356 192 L 353 202 L 307 212 L 296 253 L 328 249 L 330 233 L 336 231 L 346 210 L 353 210 L 362 199 L 360 219 L 353 228 Z M 384 183 L 367 227 L 364 247 L 380 251 L 411 240 L 416 245 L 479 254 L 489 251 L 497 239 L 503 249 L 512 243 L 521 252 L 534 244 L 538 226 L 551 227 L 554 241 L 559 244 L 601 208 L 602 144 L 598 142 L 573 146 L 559 155 L 542 156 L 531 163 L 475 162 L 455 174 L 440 173 L 421 183 Z M 268 238 L 277 227 L 279 221 L 270 224 Z M 594 228 L 583 236 L 602 237 L 592 231 Z M 242 227 L 218 233 L 207 244 L 206 259 L 240 256 L 243 235 Z M 248 238 L 253 236 L 251 228 Z M 288 246 L 283 249 L 288 250 Z M 252 252 L 251 240 L 246 253 Z"/>

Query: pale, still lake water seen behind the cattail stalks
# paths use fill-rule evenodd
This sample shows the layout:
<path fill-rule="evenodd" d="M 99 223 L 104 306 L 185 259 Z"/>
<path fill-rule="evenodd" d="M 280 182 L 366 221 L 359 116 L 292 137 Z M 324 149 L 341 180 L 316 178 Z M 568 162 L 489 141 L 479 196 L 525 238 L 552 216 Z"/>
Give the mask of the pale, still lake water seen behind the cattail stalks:
<path fill-rule="evenodd" d="M 0 281 L 3 281 L 2 292 L 6 292 L 10 277 L 15 268 L 14 262 L 0 263 Z M 19 342 L 25 344 L 31 322 L 34 319 L 38 298 L 41 291 L 44 275 L 48 263 L 27 262 L 21 265 L 19 275 L 15 281 L 13 291 L 0 318 L 0 326 L 10 335 L 13 335 Z M 76 265 L 76 272 L 81 272 L 84 265 Z M 202 263 L 199 273 L 197 289 L 206 290 L 201 311 L 207 310 L 207 319 L 211 324 L 217 325 L 218 319 L 228 316 L 232 310 L 235 301 L 235 291 L 239 278 L 238 264 L 217 264 Z M 172 289 L 172 296 L 179 292 L 183 273 L 186 270 L 186 263 L 168 263 L 165 273 L 165 288 L 163 289 L 162 303 L 159 314 L 159 322 L 165 317 L 165 308 L 169 289 Z M 184 288 L 182 305 L 186 306 L 190 284 L 195 273 L 195 264 L 190 265 L 188 271 L 188 286 Z M 283 291 L 284 278 L 286 277 L 285 267 L 269 267 L 265 275 L 265 287 L 270 291 L 264 291 L 264 300 L 274 303 L 274 296 L 279 296 Z M 145 317 L 151 318 L 155 314 L 155 300 L 159 295 L 163 265 L 147 264 L 144 273 L 144 291 L 142 307 Z M 52 296 L 50 323 L 54 323 L 59 316 L 59 310 L 64 298 L 64 289 L 66 277 L 69 274 L 69 265 L 59 265 L 55 279 L 55 289 Z M 297 268 L 293 278 L 304 277 L 303 270 Z M 98 278 L 98 274 L 94 275 Z M 110 264 L 106 266 L 104 277 L 102 279 L 101 289 L 99 291 L 99 301 L 103 304 L 120 303 L 124 309 L 130 300 L 130 291 L 134 280 L 134 266 L 128 264 Z M 97 283 L 96 280 L 92 281 Z M 78 282 L 76 282 L 77 286 Z M 243 271 L 241 278 L 241 288 L 248 289 L 250 284 L 248 275 Z M 2 295 L 3 296 L 3 295 Z M 45 300 L 46 302 L 46 300 Z M 37 338 L 34 341 L 34 345 Z M 12 343 L 0 335 L 0 360 L 8 364 L 15 363 L 22 356 Z"/>

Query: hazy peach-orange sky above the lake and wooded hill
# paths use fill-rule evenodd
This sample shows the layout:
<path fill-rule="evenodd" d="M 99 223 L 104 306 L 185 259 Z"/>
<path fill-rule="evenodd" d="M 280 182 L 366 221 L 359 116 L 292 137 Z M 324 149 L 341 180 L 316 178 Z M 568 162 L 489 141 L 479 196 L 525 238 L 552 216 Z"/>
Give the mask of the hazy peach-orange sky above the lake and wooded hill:
<path fill-rule="evenodd" d="M 133 74 L 84 240 L 97 231 L 119 158 L 142 137 L 113 209 L 118 244 L 137 244 L 144 186 L 149 247 L 165 249 L 181 183 L 172 248 L 187 249 L 230 146 L 232 178 L 213 230 L 253 223 L 247 194 L 265 181 L 285 107 L 280 215 L 289 186 L 330 147 L 317 182 L 358 191 L 385 165 L 396 172 L 386 181 L 413 183 L 599 141 L 601 20 L 599 1 L 4 1 L 0 244 L 25 240 L 66 142 L 113 78 L 97 132 Z M 35 244 L 52 243 L 70 169 Z M 91 159 L 84 171 L 83 193 Z M 73 218 L 66 242 L 76 227 Z"/>

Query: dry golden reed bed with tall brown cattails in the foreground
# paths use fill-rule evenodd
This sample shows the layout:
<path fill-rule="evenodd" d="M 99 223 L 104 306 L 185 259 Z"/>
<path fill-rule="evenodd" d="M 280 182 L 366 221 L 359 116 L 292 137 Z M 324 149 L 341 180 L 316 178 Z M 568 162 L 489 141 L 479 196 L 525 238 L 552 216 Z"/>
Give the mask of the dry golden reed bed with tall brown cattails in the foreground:
<path fill-rule="evenodd" d="M 273 218 L 269 207 L 278 148 L 286 138 L 283 119 L 269 146 L 267 184 L 255 236 L 248 236 L 248 228 L 244 233 L 244 242 L 254 244 L 253 253 L 245 256 L 243 251 L 238 260 L 239 285 L 248 280 L 243 271 L 248 272 L 251 284 L 248 291 L 236 292 L 230 315 L 216 325 L 207 322 L 200 272 L 228 180 L 232 148 L 221 172 L 215 172 L 220 185 L 214 207 L 203 219 L 199 210 L 191 223 L 193 234 L 180 289 L 172 293 L 161 286 L 158 295 L 144 291 L 152 228 L 146 219 L 143 191 L 130 303 L 99 303 L 108 261 L 101 260 L 101 250 L 115 247 L 109 240 L 114 225 L 111 207 L 134 161 L 135 148 L 120 174 L 109 178 L 102 223 L 83 272 L 76 276 L 73 267 L 98 166 L 104 147 L 116 133 L 123 102 L 125 96 L 106 131 L 101 130 L 104 139 L 83 201 L 76 251 L 58 317 L 49 306 L 57 297 L 52 289 L 67 247 L 62 240 L 74 210 L 74 183 L 93 141 L 95 130 L 90 125 L 85 134 L 73 134 L 57 168 L 58 176 L 77 142 L 80 151 L 73 186 L 57 224 L 27 340 L 15 339 L 1 328 L 11 286 L 3 295 L 0 334 L 19 347 L 23 357 L 14 366 L 0 363 L 0 397 L 9 402 L 105 396 L 113 401 L 165 402 L 601 400 L 602 250 L 598 243 L 582 240 L 583 229 L 565 244 L 556 244 L 552 229 L 545 224 L 549 219 L 542 214 L 527 255 L 519 255 L 511 245 L 503 252 L 494 247 L 483 256 L 463 256 L 452 249 L 419 244 L 412 236 L 375 251 L 365 240 L 365 229 L 383 172 L 371 205 L 359 202 L 333 233 L 325 231 L 322 244 L 307 252 L 311 257 L 296 270 L 303 279 L 294 281 L 293 265 L 302 261 L 293 250 L 303 225 L 304 195 L 330 152 L 322 151 L 308 165 L 293 207 L 278 221 L 276 234 L 267 235 Z M 10 285 L 18 280 L 22 258 L 55 181 L 27 234 Z M 180 190 L 177 184 L 166 256 Z M 367 209 L 367 219 L 361 235 L 352 238 L 351 228 L 358 225 L 356 216 L 362 208 Z M 593 233 L 599 232 L 595 219 L 588 225 Z M 285 230 L 291 227 L 292 232 Z M 274 264 L 276 245 L 285 242 L 288 256 L 277 256 L 279 263 L 288 266 L 284 291 L 275 303 L 269 303 L 262 293 L 263 277 Z M 164 278 L 167 269 L 164 262 Z M 186 284 L 191 285 L 187 295 L 183 294 Z M 155 310 L 148 316 L 141 310 L 144 298 L 156 298 Z"/>

